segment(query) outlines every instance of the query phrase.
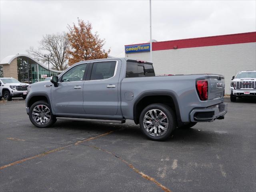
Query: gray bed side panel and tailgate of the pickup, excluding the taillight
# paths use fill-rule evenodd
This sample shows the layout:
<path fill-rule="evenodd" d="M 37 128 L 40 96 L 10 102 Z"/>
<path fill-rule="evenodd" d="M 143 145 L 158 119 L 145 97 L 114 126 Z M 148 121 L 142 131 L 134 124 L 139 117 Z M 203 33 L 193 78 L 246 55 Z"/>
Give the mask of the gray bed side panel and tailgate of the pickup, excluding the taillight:
<path fill-rule="evenodd" d="M 208 100 L 201 101 L 196 80 L 208 80 Z M 166 93 L 173 95 L 180 111 L 182 122 L 190 122 L 190 112 L 194 108 L 207 108 L 224 101 L 224 76 L 218 74 L 188 74 L 175 76 L 154 76 L 141 78 L 124 78 L 121 82 L 122 112 L 125 118 L 133 118 L 129 106 L 145 93 Z M 126 92 L 132 92 L 132 100 L 126 100 Z"/>

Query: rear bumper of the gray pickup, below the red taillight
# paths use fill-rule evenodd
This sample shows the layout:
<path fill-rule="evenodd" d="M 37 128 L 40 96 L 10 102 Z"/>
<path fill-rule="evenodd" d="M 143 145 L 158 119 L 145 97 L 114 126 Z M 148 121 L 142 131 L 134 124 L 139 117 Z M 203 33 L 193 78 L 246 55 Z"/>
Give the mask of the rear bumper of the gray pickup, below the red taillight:
<path fill-rule="evenodd" d="M 228 111 L 227 103 L 220 103 L 207 108 L 194 108 L 190 113 L 191 122 L 212 122 L 216 119 L 224 119 Z"/>

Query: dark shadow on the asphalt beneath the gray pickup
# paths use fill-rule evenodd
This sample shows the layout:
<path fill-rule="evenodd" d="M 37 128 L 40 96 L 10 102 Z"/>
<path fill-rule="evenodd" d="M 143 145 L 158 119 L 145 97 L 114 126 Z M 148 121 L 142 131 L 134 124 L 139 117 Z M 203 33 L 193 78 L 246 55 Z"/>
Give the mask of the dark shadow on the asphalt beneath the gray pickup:
<path fill-rule="evenodd" d="M 146 142 L 148 138 L 141 132 L 139 125 L 136 124 L 109 124 L 97 122 L 80 122 L 80 121 L 57 121 L 52 127 L 53 129 L 64 129 L 72 134 L 100 134 L 112 131 L 110 140 L 130 140 L 130 142 Z M 46 128 L 47 129 L 47 128 Z M 51 129 L 51 128 L 50 128 Z M 172 132 L 170 137 L 164 142 L 199 142 L 199 143 L 215 143 L 226 137 L 226 132 L 218 133 L 214 130 L 200 130 L 196 126 L 188 129 L 177 128 Z M 153 141 L 154 142 L 154 141 Z"/>

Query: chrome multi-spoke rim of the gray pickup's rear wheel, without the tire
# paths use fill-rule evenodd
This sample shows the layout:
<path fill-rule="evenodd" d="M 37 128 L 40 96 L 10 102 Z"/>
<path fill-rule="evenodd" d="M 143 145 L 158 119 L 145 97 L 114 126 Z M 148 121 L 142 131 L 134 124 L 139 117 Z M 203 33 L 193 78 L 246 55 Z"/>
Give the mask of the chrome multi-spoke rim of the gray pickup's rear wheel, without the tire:
<path fill-rule="evenodd" d="M 161 110 L 151 109 L 144 115 L 143 126 L 151 136 L 162 136 L 168 129 L 167 116 Z"/>

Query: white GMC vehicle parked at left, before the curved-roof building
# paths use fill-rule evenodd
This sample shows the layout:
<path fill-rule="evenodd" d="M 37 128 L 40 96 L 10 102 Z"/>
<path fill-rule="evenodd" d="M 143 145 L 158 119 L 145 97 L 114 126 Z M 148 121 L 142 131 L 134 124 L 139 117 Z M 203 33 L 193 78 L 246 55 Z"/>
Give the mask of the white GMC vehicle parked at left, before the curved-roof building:
<path fill-rule="evenodd" d="M 26 99 L 27 83 L 21 83 L 14 78 L 0 78 L 0 92 L 6 100 L 12 100 L 13 97 L 22 97 Z"/>

